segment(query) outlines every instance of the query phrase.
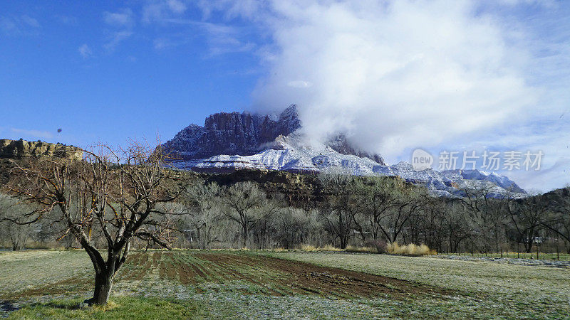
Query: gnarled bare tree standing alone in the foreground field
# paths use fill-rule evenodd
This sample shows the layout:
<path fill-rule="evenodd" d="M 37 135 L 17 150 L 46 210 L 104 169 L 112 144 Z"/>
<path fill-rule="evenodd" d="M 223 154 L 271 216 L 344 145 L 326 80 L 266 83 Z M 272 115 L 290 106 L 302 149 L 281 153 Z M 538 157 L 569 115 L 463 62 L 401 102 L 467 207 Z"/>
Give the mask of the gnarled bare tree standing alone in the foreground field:
<path fill-rule="evenodd" d="M 160 150 L 136 142 L 126 149 L 100 145 L 93 150 L 82 161 L 39 159 L 27 167 L 14 163 L 11 190 L 38 209 L 12 222 L 34 223 L 58 207 L 66 225 L 63 235 L 73 235 L 93 263 L 95 290 L 88 302 L 105 304 L 133 238 L 169 246 L 170 220 L 157 204 L 172 201 L 176 193 Z M 105 239 L 106 259 L 93 242 L 95 227 Z"/>

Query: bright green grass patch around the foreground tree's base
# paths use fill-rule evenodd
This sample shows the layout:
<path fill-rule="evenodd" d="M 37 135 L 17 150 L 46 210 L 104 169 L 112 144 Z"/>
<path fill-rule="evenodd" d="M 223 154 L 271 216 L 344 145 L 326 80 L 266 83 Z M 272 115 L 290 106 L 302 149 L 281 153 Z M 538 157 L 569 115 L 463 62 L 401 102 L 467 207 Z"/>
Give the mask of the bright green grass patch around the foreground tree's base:
<path fill-rule="evenodd" d="M 196 319 L 209 314 L 203 303 L 156 298 L 116 297 L 106 306 L 79 308 L 80 299 L 32 304 L 9 319 Z"/>

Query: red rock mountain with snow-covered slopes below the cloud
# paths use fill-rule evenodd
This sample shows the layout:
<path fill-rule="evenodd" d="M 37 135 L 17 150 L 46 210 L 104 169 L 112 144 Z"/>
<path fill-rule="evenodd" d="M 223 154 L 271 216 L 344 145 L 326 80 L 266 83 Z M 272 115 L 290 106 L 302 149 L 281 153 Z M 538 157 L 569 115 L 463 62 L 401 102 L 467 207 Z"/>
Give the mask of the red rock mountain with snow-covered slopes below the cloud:
<path fill-rule="evenodd" d="M 342 133 L 316 143 L 306 141 L 299 128 L 296 105 L 275 119 L 247 112 L 221 112 L 207 117 L 204 127 L 190 124 L 182 129 L 162 144 L 162 151 L 169 154 L 172 166 L 192 171 L 341 171 L 358 176 L 400 176 L 438 196 L 459 196 L 465 188 L 487 188 L 491 196 L 500 196 L 506 190 L 515 196 L 525 195 L 506 176 L 479 170 L 415 171 L 405 161 L 388 166 L 380 155 L 359 150 Z"/>

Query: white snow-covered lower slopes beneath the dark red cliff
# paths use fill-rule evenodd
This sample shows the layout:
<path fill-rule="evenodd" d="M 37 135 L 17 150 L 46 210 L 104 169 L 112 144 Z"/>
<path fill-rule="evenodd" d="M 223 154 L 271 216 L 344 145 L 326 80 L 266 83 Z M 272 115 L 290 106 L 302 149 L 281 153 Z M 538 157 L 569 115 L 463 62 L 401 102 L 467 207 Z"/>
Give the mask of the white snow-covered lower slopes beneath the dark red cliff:
<path fill-rule="evenodd" d="M 411 164 L 402 161 L 387 166 L 368 157 L 341 154 L 324 144 L 304 144 L 299 134 L 279 136 L 267 144 L 264 151 L 249 156 L 217 155 L 207 159 L 178 161 L 179 169 L 202 172 L 228 172 L 239 169 L 268 169 L 297 173 L 340 171 L 358 176 L 400 176 L 410 183 L 426 186 L 438 196 L 459 196 L 463 188 L 490 188 L 492 196 L 500 196 L 510 189 L 517 196 L 524 190 L 505 176 L 487 174 L 478 170 L 415 171 Z"/>

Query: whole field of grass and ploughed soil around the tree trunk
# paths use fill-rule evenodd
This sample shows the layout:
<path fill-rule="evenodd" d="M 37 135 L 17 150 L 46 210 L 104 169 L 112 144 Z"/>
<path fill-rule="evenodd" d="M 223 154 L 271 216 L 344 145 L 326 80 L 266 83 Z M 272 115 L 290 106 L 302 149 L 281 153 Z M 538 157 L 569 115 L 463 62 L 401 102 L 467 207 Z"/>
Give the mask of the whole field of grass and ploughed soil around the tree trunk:
<path fill-rule="evenodd" d="M 567 318 L 570 269 L 346 252 L 135 252 L 112 302 L 78 308 L 92 271 L 78 251 L 0 254 L 12 318 Z"/>

